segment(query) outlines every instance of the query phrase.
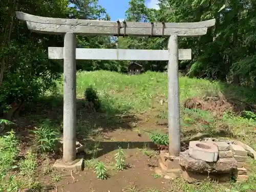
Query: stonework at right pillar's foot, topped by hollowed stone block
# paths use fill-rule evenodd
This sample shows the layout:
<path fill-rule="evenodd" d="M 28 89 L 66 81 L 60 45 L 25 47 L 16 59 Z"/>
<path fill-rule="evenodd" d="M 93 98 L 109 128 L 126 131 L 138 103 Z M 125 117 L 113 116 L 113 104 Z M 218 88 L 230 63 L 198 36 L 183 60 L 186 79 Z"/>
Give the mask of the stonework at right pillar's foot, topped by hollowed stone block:
<path fill-rule="evenodd" d="M 191 141 L 189 149 L 179 157 L 161 151 L 156 173 L 166 179 L 182 176 L 189 183 L 205 179 L 229 182 L 232 178 L 246 181 L 244 161 L 247 158 L 247 151 L 238 145 L 224 141 Z"/>

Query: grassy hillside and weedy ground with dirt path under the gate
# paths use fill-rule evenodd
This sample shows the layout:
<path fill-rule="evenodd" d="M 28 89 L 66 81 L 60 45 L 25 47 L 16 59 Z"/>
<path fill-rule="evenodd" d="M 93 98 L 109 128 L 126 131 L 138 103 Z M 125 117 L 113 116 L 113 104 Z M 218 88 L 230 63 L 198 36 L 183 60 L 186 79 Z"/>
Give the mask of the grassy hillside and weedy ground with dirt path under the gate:
<path fill-rule="evenodd" d="M 246 112 L 246 117 L 242 115 L 254 108 L 256 91 L 218 81 L 188 77 L 179 80 L 183 140 L 202 135 L 227 137 L 256 148 L 256 115 L 251 112 Z M 89 86 L 97 91 L 100 112 L 87 108 L 84 91 Z M 204 181 L 187 184 L 182 179 L 169 182 L 154 174 L 148 165 L 156 164 L 157 152 L 151 149 L 145 131 L 167 133 L 167 76 L 156 72 L 138 76 L 108 71 L 77 73 L 77 138 L 86 145 L 88 169 L 71 175 L 57 172 L 51 165 L 59 157 L 54 138 L 62 131 L 62 91 L 60 81 L 55 93 L 26 105 L 23 115 L 14 120 L 16 125 L 10 125 L 15 133 L 0 138 L 0 191 L 4 188 L 9 188 L 8 191 L 17 191 L 18 188 L 57 191 L 60 187 L 62 191 L 88 188 L 88 192 L 256 191 L 255 161 L 248 162 L 250 177 L 246 183 Z M 201 108 L 189 109 L 187 100 L 195 97 L 197 100 L 192 101 L 198 101 Z M 230 110 L 231 101 L 236 109 Z M 40 141 L 44 138 L 48 139 L 42 144 Z M 129 164 L 129 168 L 121 172 L 115 168 L 118 146 L 122 147 L 119 156 L 124 153 L 123 160 Z M 110 178 L 97 179 L 92 170 L 97 162 L 105 165 Z M 24 181 L 24 178 L 31 179 Z M 44 187 L 43 190 L 42 186 L 46 185 L 53 189 Z M 110 187 L 106 190 L 108 185 Z"/>

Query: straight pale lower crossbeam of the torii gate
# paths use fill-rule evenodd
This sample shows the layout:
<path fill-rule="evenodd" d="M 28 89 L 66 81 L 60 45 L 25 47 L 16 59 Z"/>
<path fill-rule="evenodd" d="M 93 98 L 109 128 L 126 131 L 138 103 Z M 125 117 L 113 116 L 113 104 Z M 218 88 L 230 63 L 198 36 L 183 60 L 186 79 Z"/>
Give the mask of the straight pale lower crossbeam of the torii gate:
<path fill-rule="evenodd" d="M 49 47 L 49 59 L 63 59 L 62 47 Z M 85 60 L 169 60 L 168 50 L 82 49 L 76 48 L 76 59 Z M 190 60 L 191 49 L 179 49 L 179 60 Z"/>

